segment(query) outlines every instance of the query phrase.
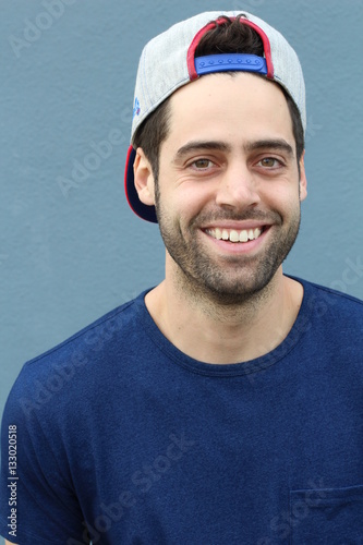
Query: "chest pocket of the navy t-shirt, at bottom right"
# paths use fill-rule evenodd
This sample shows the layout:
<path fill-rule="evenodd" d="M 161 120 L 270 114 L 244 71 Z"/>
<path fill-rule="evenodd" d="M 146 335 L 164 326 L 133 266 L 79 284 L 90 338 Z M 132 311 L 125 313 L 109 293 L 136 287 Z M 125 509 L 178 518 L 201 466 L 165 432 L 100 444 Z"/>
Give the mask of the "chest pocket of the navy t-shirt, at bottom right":
<path fill-rule="evenodd" d="M 363 485 L 291 491 L 291 545 L 363 545 Z"/>

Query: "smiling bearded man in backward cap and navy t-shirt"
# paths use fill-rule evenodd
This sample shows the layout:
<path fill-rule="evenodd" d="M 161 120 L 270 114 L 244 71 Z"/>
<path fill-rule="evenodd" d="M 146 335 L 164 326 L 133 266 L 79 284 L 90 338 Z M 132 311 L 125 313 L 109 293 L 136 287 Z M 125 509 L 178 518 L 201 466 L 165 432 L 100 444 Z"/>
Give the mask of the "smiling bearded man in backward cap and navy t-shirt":
<path fill-rule="evenodd" d="M 9 542 L 362 543 L 362 303 L 281 268 L 305 119 L 297 55 L 251 14 L 145 47 L 125 187 L 166 278 L 24 366 Z"/>

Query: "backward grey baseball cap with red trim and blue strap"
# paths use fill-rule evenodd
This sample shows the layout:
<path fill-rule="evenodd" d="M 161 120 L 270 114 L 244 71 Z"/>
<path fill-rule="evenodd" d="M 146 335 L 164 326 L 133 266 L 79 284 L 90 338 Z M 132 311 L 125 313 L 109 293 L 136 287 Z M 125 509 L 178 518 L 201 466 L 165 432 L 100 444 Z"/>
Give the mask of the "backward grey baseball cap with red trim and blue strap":
<path fill-rule="evenodd" d="M 220 53 L 195 58 L 203 36 L 225 16 L 241 16 L 241 24 L 254 28 L 264 45 L 264 57 L 241 53 Z M 133 106 L 131 145 L 125 166 L 125 194 L 129 205 L 141 218 L 157 222 L 154 206 L 143 204 L 134 186 L 133 165 L 136 150 L 134 135 L 138 126 L 156 108 L 178 88 L 204 74 L 225 71 L 253 72 L 278 83 L 295 102 L 303 129 L 306 129 L 305 85 L 301 64 L 287 39 L 265 21 L 246 12 L 210 11 L 177 23 L 153 38 L 143 49 Z"/>

